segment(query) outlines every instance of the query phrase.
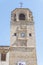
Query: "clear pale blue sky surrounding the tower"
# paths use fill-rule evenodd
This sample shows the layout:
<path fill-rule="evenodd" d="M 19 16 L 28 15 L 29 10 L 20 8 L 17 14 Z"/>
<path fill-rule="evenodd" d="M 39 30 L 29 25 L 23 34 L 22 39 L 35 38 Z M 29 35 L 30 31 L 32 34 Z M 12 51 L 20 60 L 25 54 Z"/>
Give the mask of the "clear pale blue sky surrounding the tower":
<path fill-rule="evenodd" d="M 0 0 L 0 45 L 10 45 L 11 11 L 29 8 L 34 17 L 37 65 L 43 65 L 43 0 Z"/>

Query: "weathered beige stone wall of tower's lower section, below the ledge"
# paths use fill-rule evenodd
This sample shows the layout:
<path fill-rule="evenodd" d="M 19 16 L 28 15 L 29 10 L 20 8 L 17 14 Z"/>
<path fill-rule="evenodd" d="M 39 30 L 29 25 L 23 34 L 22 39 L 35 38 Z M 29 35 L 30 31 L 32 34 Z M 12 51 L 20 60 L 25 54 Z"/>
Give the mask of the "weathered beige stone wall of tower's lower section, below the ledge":
<path fill-rule="evenodd" d="M 24 61 L 26 65 L 36 65 L 35 48 L 15 47 L 10 49 L 10 65 L 16 65 L 20 61 Z"/>

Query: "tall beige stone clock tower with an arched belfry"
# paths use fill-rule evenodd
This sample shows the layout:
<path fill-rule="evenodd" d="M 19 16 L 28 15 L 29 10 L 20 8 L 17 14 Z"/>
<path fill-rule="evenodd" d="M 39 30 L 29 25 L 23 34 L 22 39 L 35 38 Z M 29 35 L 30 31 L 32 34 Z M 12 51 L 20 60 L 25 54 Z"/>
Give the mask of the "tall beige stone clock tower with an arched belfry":
<path fill-rule="evenodd" d="M 34 20 L 30 9 L 11 12 L 10 65 L 37 65 Z"/>

